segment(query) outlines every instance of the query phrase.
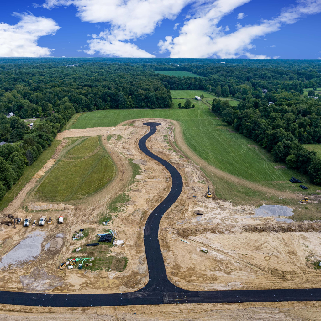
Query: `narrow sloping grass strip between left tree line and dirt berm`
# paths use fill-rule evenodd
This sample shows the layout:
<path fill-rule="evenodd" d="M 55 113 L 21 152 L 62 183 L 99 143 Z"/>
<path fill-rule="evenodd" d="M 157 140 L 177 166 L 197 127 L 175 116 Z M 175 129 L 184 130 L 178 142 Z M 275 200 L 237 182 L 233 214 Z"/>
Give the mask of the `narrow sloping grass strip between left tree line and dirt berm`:
<path fill-rule="evenodd" d="M 54 140 L 44 152 L 39 156 L 39 158 L 31 165 L 27 166 L 22 177 L 19 181 L 13 185 L 12 189 L 4 195 L 4 198 L 0 202 L 0 211 L 2 211 L 8 204 L 19 194 L 23 187 L 30 181 L 30 179 L 47 163 L 51 156 L 55 153 L 57 146 L 60 141 Z"/>

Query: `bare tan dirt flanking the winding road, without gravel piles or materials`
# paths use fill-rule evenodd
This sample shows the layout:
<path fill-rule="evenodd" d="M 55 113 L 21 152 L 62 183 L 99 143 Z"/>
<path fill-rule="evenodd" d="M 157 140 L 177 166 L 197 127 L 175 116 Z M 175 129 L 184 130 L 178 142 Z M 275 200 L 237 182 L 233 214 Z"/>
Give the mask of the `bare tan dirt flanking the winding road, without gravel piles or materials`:
<path fill-rule="evenodd" d="M 93 196 L 69 206 L 31 203 L 28 193 L 22 191 L 25 194 L 20 198 L 18 195 L 18 200 L 15 199 L 9 205 L 21 215 L 27 214 L 27 205 L 30 209 L 28 214 L 31 213 L 34 218 L 46 214 L 56 219 L 63 215 L 67 220 L 64 224 L 58 225 L 54 222 L 52 225 L 36 228 L 19 226 L 14 230 L 12 227 L 2 227 L 1 255 L 12 250 L 31 231 L 43 230 L 45 237 L 41 244 L 42 251 L 34 260 L 1 271 L 1 290 L 35 291 L 28 285 L 23 286 L 21 276 L 25 275 L 34 282 L 39 282 L 37 274 L 43 279 L 53 280 L 51 288 L 47 283 L 43 284 L 43 289 L 38 290 L 42 292 L 126 292 L 137 290 L 147 283 L 143 226 L 152 209 L 168 194 L 171 181 L 169 173 L 138 148 L 139 138 L 147 131 L 147 127 L 142 125 L 144 121 L 146 120 L 133 120 L 132 126 L 120 124 L 116 127 L 70 130 L 59 134 L 57 139 L 60 140 L 65 137 L 103 135 L 106 150 L 117 165 L 117 175 L 110 184 Z M 173 164 L 184 182 L 181 196 L 165 213 L 160 225 L 159 241 L 171 282 L 189 290 L 321 287 L 321 270 L 313 265 L 321 259 L 320 223 L 285 223 L 276 221 L 274 217 L 253 217 L 254 206 L 235 206 L 216 199 L 215 195 L 207 199 L 207 185 L 210 185 L 212 191 L 213 187 L 200 170 L 200 160 L 197 160 L 196 165 L 186 156 L 188 150 L 183 154 L 170 142 L 174 139 L 174 122 L 163 119 L 153 121 L 159 121 L 163 125 L 148 139 L 147 147 Z M 128 124 L 128 121 L 126 123 Z M 178 129 L 178 124 L 175 124 L 175 139 L 181 148 L 183 142 L 179 138 Z M 132 177 L 131 160 L 141 167 L 135 178 Z M 37 182 L 33 190 L 36 188 Z M 127 195 L 126 202 L 114 212 L 108 210 L 115 197 L 124 192 Z M 197 211 L 203 215 L 197 215 Z M 101 215 L 112 216 L 106 227 L 98 224 Z M 83 241 L 73 241 L 72 235 L 79 228 L 90 229 L 90 234 Z M 106 248 L 104 254 L 127 257 L 128 265 L 123 272 L 57 270 L 58 264 L 68 257 L 91 257 L 87 248 L 81 254 L 72 251 L 93 241 L 95 235 L 106 228 L 116 231 L 117 240 L 124 241 L 124 246 Z M 44 250 L 45 245 L 55 239 L 57 233 L 63 234 L 62 246 L 53 251 Z M 233 305 L 233 309 L 230 316 L 240 316 L 243 313 L 239 312 L 239 309 L 243 311 L 241 306 Z M 264 313 L 272 313 L 266 309 Z M 174 313 L 174 310 L 170 310 L 170 313 Z M 284 311 L 282 313 L 285 313 Z M 282 313 L 277 312 L 275 315 L 280 319 L 282 315 L 283 319 L 286 319 Z M 173 315 L 169 314 L 168 319 Z M 298 318 L 298 315 L 296 316 Z M 154 314 L 150 318 L 156 317 Z M 257 319 L 260 317 L 261 314 Z"/>

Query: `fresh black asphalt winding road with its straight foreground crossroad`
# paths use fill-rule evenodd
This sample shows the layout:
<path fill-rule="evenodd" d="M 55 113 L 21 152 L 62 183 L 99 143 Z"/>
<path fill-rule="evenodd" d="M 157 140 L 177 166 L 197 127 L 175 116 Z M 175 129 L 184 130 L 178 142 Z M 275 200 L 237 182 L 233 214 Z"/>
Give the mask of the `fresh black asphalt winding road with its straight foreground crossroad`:
<path fill-rule="evenodd" d="M 182 192 L 183 181 L 174 166 L 154 155 L 146 147 L 147 139 L 156 132 L 157 126 L 161 124 L 150 122 L 143 125 L 150 126 L 151 129 L 139 140 L 139 148 L 147 156 L 160 162 L 172 177 L 172 188 L 169 194 L 149 215 L 144 229 L 144 246 L 149 270 L 149 281 L 146 286 L 134 292 L 112 294 L 44 294 L 0 291 L 0 304 L 90 307 L 171 303 L 317 301 L 321 299 L 321 289 L 187 291 L 169 282 L 158 242 L 158 230 L 162 216 Z"/>

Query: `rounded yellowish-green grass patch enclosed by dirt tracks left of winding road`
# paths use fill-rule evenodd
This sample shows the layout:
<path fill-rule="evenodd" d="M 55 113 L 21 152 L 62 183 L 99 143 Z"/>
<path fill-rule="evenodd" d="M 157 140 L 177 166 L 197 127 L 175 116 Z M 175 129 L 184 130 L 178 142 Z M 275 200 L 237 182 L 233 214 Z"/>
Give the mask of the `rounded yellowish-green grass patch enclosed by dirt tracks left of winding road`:
<path fill-rule="evenodd" d="M 115 165 L 100 137 L 77 139 L 44 177 L 34 197 L 68 202 L 91 195 L 115 176 Z"/>

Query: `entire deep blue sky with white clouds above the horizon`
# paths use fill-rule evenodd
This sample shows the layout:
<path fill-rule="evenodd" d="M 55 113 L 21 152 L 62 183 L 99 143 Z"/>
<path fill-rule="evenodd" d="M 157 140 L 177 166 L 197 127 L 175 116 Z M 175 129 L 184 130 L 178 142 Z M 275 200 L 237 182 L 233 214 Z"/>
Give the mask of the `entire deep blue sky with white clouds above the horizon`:
<path fill-rule="evenodd" d="M 1 9 L 0 56 L 321 57 L 321 0 L 12 0 Z"/>

